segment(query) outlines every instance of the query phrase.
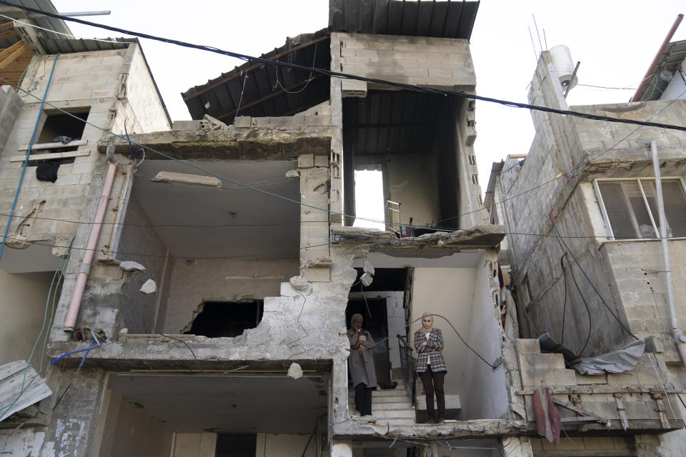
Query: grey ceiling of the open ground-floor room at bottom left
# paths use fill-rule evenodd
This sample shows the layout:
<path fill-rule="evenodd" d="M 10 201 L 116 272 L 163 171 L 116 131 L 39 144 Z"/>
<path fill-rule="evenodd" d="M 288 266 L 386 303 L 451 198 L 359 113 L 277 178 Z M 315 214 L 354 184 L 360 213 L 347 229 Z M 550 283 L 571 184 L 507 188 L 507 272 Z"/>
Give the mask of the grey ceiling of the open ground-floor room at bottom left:
<path fill-rule="evenodd" d="M 311 433 L 327 413 L 328 375 L 154 376 L 116 373 L 109 387 L 174 430 Z"/>

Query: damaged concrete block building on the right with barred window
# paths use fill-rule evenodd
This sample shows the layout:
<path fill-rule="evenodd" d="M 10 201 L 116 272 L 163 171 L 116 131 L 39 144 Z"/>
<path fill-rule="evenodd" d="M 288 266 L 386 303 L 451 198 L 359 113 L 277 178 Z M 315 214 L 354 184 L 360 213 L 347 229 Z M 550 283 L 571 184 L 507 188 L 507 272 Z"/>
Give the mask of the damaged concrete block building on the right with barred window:
<path fill-rule="evenodd" d="M 560 51 L 542 53 L 530 104 L 686 124 L 686 41 L 667 39 L 645 84 L 623 104 L 568 107 L 575 81 Z M 601 373 L 577 373 L 574 387 L 552 378 L 542 385 L 564 391 L 555 400 L 571 398 L 599 416 L 619 411 L 621 439 L 635 446 L 612 453 L 618 438 L 608 428 L 595 431 L 597 453 L 583 453 L 590 438 L 575 439 L 567 427 L 571 441 L 562 438 L 556 449 L 532 439 L 534 454 L 684 456 L 686 433 L 672 430 L 682 428 L 673 418 L 685 414 L 686 398 L 686 134 L 542 111 L 532 119 L 530 151 L 493 164 L 485 198 L 489 221 L 507 227 L 499 260 L 512 271 L 520 337 L 533 338 L 535 351 L 540 340 L 581 373 Z M 635 360 L 622 367 L 617 354 Z"/>

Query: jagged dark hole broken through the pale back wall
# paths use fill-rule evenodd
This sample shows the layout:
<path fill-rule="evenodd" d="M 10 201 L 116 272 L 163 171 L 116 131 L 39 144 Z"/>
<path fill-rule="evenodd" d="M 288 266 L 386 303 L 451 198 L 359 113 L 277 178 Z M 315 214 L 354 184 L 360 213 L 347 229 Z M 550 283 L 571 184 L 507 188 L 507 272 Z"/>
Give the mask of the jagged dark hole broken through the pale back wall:
<path fill-rule="evenodd" d="M 206 301 L 191 325 L 184 333 L 221 338 L 240 336 L 248 328 L 255 328 L 262 321 L 264 301 L 247 302 Z"/>

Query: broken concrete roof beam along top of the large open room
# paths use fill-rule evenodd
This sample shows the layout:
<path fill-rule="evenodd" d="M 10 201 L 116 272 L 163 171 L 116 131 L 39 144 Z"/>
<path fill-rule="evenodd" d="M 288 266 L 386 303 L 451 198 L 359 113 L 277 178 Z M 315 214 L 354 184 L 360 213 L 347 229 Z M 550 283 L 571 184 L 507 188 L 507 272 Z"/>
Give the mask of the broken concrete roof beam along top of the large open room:
<path fill-rule="evenodd" d="M 216 160 L 291 160 L 301 154 L 328 156 L 331 135 L 325 127 L 312 127 L 302 131 L 282 131 L 250 127 L 224 130 L 172 130 L 150 134 L 131 135 L 134 149 L 142 145 L 169 156 L 172 159 Z M 99 142 L 100 154 L 107 146 L 114 146 L 115 154 L 131 154 L 129 141 L 119 136 L 107 136 Z M 146 151 L 148 159 L 167 159 Z"/>

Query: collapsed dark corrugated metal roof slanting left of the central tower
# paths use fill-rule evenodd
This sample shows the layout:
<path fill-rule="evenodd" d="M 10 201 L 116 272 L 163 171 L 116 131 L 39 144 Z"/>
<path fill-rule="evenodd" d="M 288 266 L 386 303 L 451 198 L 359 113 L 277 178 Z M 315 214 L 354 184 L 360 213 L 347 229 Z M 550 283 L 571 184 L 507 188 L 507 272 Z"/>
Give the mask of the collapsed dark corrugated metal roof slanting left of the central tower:
<path fill-rule="evenodd" d="M 329 69 L 329 31 L 289 38 L 262 58 Z M 290 116 L 329 99 L 329 77 L 247 62 L 182 94 L 193 119 L 205 114 L 231 124 L 239 116 Z M 240 105 L 240 106 L 239 106 Z"/>

